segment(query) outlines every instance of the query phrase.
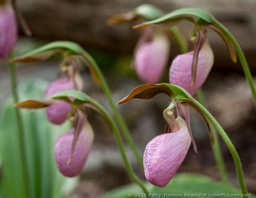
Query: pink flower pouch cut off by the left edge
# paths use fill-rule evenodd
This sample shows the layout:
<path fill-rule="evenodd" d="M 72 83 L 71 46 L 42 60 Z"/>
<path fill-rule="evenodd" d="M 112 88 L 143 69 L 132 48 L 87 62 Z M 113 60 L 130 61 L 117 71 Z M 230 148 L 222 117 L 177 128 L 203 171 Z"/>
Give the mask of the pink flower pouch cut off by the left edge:
<path fill-rule="evenodd" d="M 17 24 L 11 6 L 0 7 L 0 58 L 5 58 L 11 52 L 17 41 Z"/>

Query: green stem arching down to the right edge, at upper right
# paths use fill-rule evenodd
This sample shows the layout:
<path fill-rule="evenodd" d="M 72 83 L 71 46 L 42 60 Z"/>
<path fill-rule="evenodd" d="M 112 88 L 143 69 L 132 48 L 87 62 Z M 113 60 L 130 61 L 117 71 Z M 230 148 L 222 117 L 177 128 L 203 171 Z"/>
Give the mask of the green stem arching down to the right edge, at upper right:
<path fill-rule="evenodd" d="M 244 71 L 244 75 L 247 78 L 248 84 L 250 86 L 250 90 L 252 91 L 253 94 L 253 99 L 254 99 L 254 104 L 256 105 L 256 90 L 255 90 L 255 86 L 254 86 L 254 82 L 253 82 L 253 77 L 252 77 L 252 73 L 250 72 L 250 68 L 248 66 L 247 60 L 244 56 L 244 52 L 241 49 L 239 43 L 237 42 L 237 40 L 234 38 L 234 36 L 232 35 L 231 32 L 229 32 L 229 30 L 223 26 L 223 24 L 221 24 L 219 21 L 215 20 L 214 22 L 215 26 L 218 27 L 219 29 L 221 29 L 221 31 L 223 31 L 223 33 L 230 39 L 230 41 L 233 43 L 235 51 L 237 52 L 237 55 L 239 57 L 240 63 L 242 65 L 243 71 Z"/>

